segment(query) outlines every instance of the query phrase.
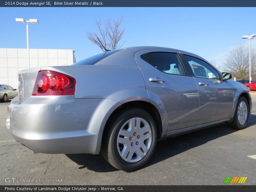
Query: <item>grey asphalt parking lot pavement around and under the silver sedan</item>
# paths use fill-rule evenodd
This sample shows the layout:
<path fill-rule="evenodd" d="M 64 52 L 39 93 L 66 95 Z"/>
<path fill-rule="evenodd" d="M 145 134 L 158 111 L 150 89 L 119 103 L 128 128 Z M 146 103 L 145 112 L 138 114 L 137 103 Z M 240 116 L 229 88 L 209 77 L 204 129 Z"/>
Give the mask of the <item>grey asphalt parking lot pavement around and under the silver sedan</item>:
<path fill-rule="evenodd" d="M 256 95 L 251 96 L 246 129 L 220 124 L 159 141 L 149 163 L 134 172 L 116 170 L 101 155 L 33 154 L 5 127 L 10 101 L 0 103 L 0 185 L 222 185 L 226 177 L 247 177 L 243 185 L 256 185 Z"/>

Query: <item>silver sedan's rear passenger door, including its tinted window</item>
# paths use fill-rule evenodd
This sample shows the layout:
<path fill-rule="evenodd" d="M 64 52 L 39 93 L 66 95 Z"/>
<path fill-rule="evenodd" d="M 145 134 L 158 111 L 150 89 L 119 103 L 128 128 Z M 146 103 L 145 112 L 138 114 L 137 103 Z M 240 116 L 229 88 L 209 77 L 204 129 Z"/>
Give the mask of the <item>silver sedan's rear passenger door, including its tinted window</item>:
<path fill-rule="evenodd" d="M 134 54 L 151 102 L 167 115 L 167 130 L 197 124 L 199 96 L 196 81 L 187 76 L 178 52 L 143 50 Z M 164 131 L 164 130 L 163 130 Z"/>

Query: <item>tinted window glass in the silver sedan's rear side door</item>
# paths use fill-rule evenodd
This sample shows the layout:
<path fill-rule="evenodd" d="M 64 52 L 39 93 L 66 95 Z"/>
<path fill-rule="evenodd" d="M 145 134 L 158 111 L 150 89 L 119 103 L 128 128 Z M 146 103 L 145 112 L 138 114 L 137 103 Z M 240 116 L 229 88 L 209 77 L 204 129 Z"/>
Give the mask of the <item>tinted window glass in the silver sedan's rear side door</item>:
<path fill-rule="evenodd" d="M 164 73 L 186 75 L 177 53 L 150 52 L 141 55 L 140 58 Z"/>

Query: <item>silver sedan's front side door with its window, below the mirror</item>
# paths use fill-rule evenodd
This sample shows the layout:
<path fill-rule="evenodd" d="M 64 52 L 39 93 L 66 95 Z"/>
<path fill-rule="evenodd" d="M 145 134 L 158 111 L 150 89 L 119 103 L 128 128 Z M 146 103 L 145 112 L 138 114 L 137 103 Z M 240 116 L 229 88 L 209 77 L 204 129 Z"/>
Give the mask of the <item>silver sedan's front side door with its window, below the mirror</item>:
<path fill-rule="evenodd" d="M 231 84 L 222 81 L 219 72 L 204 60 L 189 55 L 183 57 L 195 76 L 199 90 L 198 123 L 230 118 L 234 100 Z"/>

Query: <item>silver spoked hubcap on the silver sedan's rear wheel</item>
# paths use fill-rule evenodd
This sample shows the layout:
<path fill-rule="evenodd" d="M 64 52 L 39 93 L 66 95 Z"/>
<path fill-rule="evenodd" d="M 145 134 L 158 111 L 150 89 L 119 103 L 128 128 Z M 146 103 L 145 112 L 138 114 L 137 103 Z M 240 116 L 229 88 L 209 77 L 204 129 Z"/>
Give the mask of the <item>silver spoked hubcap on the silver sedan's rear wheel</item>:
<path fill-rule="evenodd" d="M 147 155 L 152 142 L 148 122 L 140 117 L 126 121 L 117 137 L 117 150 L 124 161 L 134 163 Z"/>

